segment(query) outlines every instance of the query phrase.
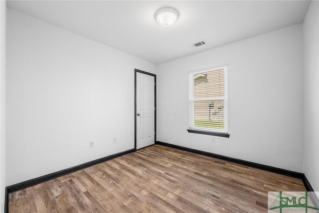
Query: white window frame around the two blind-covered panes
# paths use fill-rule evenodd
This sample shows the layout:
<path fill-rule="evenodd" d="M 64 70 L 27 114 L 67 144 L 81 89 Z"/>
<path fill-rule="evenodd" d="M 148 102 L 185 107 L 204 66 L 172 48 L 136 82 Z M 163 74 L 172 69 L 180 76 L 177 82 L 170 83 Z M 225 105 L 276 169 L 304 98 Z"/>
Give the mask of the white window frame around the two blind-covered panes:
<path fill-rule="evenodd" d="M 224 69 L 224 97 L 223 98 L 206 98 L 206 99 L 195 99 L 194 98 L 194 75 L 205 73 L 205 72 L 212 72 L 214 70 Z M 196 134 L 204 134 L 204 135 L 212 135 L 212 136 L 219 136 L 219 137 L 226 137 L 229 138 L 228 134 L 228 91 L 227 91 L 227 71 L 228 71 L 228 64 L 220 65 L 220 66 L 214 66 L 214 67 L 208 67 L 200 70 L 194 70 L 188 72 L 188 125 L 189 128 L 187 131 L 189 133 L 196 133 Z M 210 129 L 210 128 L 196 128 L 194 127 L 194 114 L 191 115 L 191 113 L 194 113 L 194 103 L 195 101 L 205 101 L 205 100 L 224 100 L 224 130 L 225 131 L 216 131 L 216 129 Z"/>

